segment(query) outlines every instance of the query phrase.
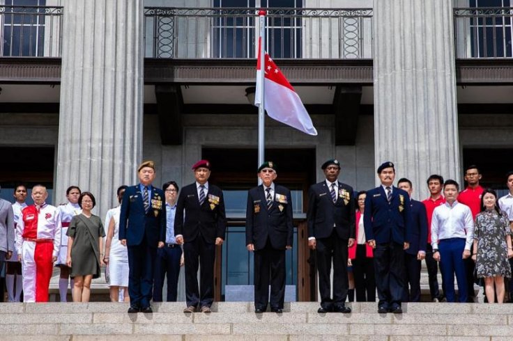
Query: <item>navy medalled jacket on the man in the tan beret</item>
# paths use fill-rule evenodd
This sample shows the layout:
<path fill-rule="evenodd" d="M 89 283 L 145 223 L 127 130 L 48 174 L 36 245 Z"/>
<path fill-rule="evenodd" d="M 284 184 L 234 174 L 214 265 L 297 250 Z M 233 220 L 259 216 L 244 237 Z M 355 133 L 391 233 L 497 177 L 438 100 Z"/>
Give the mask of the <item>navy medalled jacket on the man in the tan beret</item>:
<path fill-rule="evenodd" d="M 121 202 L 119 239 L 126 239 L 127 246 L 135 246 L 141 244 L 144 236 L 148 246 L 155 248 L 159 241 L 166 240 L 166 206 L 162 189 L 151 186 L 150 209 L 146 214 L 137 184 L 126 189 Z"/>

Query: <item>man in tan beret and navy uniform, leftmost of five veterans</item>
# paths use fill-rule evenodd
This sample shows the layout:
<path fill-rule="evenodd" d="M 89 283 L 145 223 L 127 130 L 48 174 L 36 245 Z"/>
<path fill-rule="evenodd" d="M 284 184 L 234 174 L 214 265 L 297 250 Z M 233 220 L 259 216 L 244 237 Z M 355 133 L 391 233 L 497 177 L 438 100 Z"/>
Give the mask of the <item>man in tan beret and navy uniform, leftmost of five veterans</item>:
<path fill-rule="evenodd" d="M 119 239 L 128 248 L 128 312 L 153 312 L 150 306 L 153 269 L 158 246 L 164 245 L 166 209 L 164 192 L 153 187 L 155 164 L 137 168 L 140 183 L 128 187 L 121 202 Z"/>

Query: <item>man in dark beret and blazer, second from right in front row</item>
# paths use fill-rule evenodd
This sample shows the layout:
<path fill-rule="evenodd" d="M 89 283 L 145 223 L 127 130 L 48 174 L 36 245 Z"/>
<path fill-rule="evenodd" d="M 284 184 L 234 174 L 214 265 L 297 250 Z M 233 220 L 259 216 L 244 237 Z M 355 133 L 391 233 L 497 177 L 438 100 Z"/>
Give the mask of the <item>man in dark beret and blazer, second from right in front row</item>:
<path fill-rule="evenodd" d="M 336 159 L 322 166 L 326 180 L 312 185 L 308 193 L 308 246 L 316 251 L 321 308 L 318 312 L 351 312 L 345 306 L 349 289 L 348 246 L 355 242 L 355 200 L 353 188 L 337 181 L 340 163 Z M 331 264 L 333 263 L 333 298 Z"/>

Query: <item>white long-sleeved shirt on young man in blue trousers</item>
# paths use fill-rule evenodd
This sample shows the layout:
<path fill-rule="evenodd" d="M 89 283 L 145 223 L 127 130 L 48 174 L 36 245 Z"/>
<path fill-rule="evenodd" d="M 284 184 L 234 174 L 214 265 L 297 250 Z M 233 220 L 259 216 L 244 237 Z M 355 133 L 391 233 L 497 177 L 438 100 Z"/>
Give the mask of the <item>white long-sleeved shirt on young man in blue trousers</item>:
<path fill-rule="evenodd" d="M 431 246 L 438 248 L 442 239 L 464 238 L 465 250 L 470 251 L 474 238 L 474 221 L 470 207 L 458 203 L 444 203 L 434 209 L 431 219 Z"/>

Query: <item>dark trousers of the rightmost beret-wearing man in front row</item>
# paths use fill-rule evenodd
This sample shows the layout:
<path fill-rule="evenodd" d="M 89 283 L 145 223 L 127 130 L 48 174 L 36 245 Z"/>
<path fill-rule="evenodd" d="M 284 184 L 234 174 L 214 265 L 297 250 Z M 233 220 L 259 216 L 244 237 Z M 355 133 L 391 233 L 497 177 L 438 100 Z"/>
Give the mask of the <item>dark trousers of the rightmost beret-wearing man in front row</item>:
<path fill-rule="evenodd" d="M 404 294 L 404 250 L 402 244 L 377 244 L 374 249 L 374 270 L 378 288 L 378 306 L 401 306 Z"/>

